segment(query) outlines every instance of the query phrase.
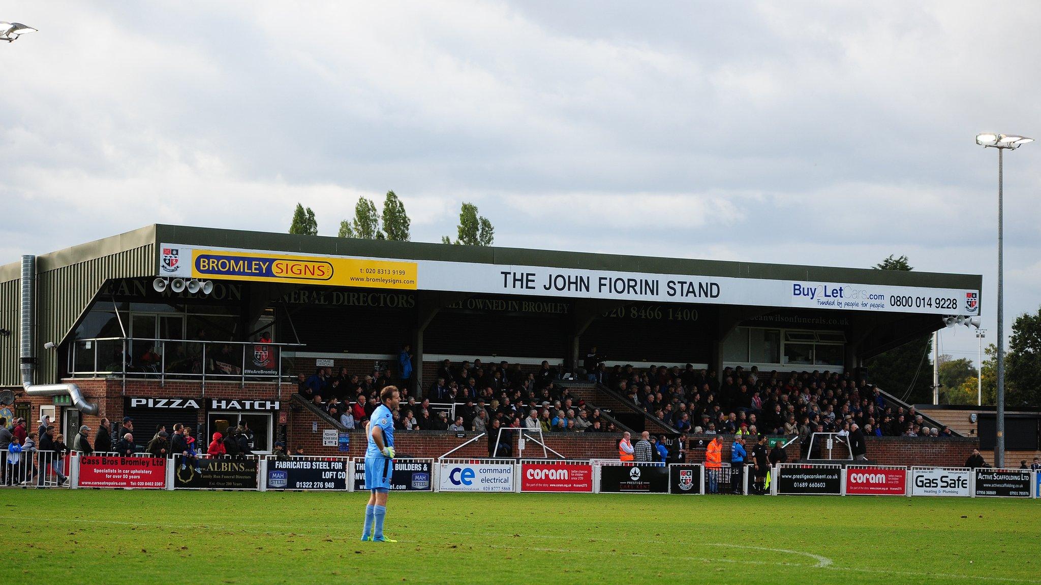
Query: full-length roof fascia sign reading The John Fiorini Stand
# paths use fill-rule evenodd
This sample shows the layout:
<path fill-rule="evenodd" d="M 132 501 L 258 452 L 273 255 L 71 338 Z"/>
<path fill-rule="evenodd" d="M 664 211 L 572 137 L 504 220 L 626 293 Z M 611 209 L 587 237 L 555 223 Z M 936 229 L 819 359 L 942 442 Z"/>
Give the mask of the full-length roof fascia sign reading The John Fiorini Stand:
<path fill-rule="evenodd" d="M 158 276 L 665 303 L 980 313 L 980 290 L 160 246 Z"/>

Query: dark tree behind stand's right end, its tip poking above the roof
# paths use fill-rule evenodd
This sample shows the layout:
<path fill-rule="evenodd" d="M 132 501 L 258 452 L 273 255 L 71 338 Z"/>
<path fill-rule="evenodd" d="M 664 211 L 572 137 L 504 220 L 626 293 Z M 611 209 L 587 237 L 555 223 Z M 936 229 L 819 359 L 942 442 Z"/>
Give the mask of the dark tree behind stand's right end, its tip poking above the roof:
<path fill-rule="evenodd" d="M 873 269 L 882 271 L 911 271 L 907 256 L 888 258 Z M 932 335 L 912 339 L 898 348 L 881 353 L 865 362 L 867 378 L 883 390 L 909 403 L 933 402 L 933 377 L 928 359 L 933 349 Z"/>

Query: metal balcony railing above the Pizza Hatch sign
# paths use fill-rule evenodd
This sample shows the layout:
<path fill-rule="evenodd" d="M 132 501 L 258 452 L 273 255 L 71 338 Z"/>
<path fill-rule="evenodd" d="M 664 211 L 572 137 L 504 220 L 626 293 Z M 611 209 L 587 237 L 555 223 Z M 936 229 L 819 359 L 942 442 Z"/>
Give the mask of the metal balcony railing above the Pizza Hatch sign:
<path fill-rule="evenodd" d="M 283 348 L 303 344 L 260 341 L 209 341 L 204 339 L 161 339 L 152 337 L 94 337 L 75 339 L 69 351 L 68 371 L 72 377 L 201 379 L 278 381 L 285 370 Z"/>

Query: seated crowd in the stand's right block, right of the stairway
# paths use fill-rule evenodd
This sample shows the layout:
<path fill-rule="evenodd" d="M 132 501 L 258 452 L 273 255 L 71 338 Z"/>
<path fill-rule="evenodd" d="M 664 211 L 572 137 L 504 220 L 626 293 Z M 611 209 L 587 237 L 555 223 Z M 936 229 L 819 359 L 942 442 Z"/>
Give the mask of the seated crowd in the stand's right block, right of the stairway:
<path fill-rule="evenodd" d="M 875 436 L 951 436 L 931 428 L 914 407 L 887 404 L 879 388 L 849 373 L 761 373 L 755 366 L 716 373 L 692 364 L 637 370 L 598 364 L 590 377 L 633 404 L 695 434 L 802 435 L 849 432 L 854 425 Z"/>

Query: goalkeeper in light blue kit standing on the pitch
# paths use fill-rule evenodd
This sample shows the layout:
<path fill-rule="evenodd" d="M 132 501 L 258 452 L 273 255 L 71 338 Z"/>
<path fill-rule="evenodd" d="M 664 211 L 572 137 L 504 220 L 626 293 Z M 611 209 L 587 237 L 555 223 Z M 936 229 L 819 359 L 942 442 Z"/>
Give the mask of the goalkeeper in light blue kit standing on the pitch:
<path fill-rule="evenodd" d="M 365 451 L 365 487 L 372 493 L 365 506 L 365 528 L 362 540 L 374 542 L 397 542 L 383 535 L 383 519 L 387 515 L 387 492 L 390 491 L 390 477 L 393 475 L 393 411 L 398 410 L 401 393 L 395 386 L 380 391 L 380 405 L 369 418 L 365 434 L 369 450 Z"/>

